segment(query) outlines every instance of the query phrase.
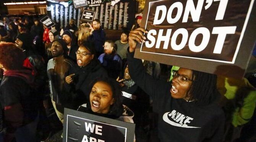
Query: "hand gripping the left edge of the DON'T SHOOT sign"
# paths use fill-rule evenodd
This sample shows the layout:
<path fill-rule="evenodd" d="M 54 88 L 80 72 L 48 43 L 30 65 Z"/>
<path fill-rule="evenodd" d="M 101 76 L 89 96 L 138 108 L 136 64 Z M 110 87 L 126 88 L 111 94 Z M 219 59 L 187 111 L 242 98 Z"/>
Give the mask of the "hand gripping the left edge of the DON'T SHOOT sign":
<path fill-rule="evenodd" d="M 130 32 L 129 34 L 129 52 L 134 52 L 136 47 L 136 41 L 139 43 L 144 43 L 146 37 L 143 35 L 143 33 L 148 33 L 144 28 L 137 28 Z"/>

